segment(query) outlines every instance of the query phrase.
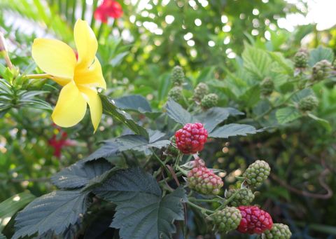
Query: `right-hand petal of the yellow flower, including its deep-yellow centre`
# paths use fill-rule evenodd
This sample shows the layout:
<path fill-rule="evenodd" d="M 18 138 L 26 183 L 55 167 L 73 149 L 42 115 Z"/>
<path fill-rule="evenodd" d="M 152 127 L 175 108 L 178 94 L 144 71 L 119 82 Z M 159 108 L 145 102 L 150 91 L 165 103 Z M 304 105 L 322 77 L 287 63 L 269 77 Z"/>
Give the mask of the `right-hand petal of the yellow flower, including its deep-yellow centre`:
<path fill-rule="evenodd" d="M 83 67 L 76 67 L 74 81 L 78 86 L 100 87 L 106 89 L 106 82 L 104 80 L 102 66 L 97 57 L 95 57 L 93 64 L 87 69 Z"/>

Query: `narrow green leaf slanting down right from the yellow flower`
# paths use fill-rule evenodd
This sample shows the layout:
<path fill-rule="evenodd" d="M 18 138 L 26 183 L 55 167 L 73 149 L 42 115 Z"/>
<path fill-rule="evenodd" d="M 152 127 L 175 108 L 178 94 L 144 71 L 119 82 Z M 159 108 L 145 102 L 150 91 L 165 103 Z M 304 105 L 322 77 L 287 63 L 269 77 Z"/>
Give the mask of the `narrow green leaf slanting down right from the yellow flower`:
<path fill-rule="evenodd" d="M 116 104 L 114 104 L 113 100 L 110 100 L 105 95 L 99 94 L 100 98 L 102 99 L 103 104 L 103 110 L 105 114 L 108 114 L 109 116 L 112 116 L 116 120 L 120 121 L 121 123 L 124 123 L 127 125 L 130 130 L 135 132 L 137 135 L 142 135 L 146 139 L 148 139 L 148 132 L 145 128 L 138 125 L 130 116 L 130 114 L 127 114 L 125 111 L 121 111 L 116 107 Z"/>

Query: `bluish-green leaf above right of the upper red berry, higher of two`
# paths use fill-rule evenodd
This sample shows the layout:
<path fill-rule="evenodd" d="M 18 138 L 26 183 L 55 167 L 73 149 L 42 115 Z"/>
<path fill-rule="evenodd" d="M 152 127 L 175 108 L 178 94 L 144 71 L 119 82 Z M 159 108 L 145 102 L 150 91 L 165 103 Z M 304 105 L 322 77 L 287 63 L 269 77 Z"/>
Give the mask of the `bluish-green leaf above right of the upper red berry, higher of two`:
<path fill-rule="evenodd" d="M 206 128 L 208 132 L 211 132 L 218 124 L 225 121 L 230 115 L 237 116 L 244 115 L 244 113 L 231 107 L 213 107 L 201 114 L 195 115 L 195 118 L 197 118 L 200 123 L 204 124 L 204 128 Z"/>

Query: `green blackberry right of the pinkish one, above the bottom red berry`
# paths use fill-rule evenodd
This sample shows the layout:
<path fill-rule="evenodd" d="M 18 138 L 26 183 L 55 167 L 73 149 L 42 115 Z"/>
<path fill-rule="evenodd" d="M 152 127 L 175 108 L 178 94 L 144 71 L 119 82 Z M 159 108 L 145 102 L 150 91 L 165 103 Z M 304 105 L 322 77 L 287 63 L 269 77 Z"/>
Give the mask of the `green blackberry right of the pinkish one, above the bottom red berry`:
<path fill-rule="evenodd" d="M 260 186 L 269 176 L 271 168 L 265 161 L 257 160 L 248 166 L 243 174 L 245 181 L 250 186 Z"/>

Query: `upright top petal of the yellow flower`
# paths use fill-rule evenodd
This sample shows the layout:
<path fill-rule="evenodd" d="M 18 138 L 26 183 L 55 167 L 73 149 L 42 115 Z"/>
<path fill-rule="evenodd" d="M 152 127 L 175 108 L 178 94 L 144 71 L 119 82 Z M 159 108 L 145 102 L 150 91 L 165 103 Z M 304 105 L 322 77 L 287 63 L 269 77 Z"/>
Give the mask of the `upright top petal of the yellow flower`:
<path fill-rule="evenodd" d="M 98 49 L 98 42 L 94 32 L 86 21 L 77 20 L 73 34 L 78 51 L 78 64 L 90 67 Z"/>

